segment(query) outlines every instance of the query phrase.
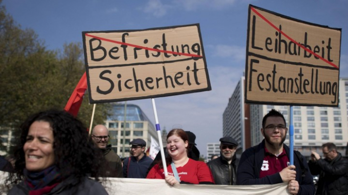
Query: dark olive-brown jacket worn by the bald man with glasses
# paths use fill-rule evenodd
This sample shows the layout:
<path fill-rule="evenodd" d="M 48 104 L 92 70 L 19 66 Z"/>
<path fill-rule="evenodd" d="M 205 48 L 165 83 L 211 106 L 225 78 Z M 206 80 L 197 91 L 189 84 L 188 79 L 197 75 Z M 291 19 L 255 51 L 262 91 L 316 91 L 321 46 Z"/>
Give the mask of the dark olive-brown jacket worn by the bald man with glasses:
<path fill-rule="evenodd" d="M 120 157 L 111 149 L 111 144 L 102 149 L 107 166 L 105 167 L 106 174 L 104 177 L 122 178 L 122 162 Z"/>

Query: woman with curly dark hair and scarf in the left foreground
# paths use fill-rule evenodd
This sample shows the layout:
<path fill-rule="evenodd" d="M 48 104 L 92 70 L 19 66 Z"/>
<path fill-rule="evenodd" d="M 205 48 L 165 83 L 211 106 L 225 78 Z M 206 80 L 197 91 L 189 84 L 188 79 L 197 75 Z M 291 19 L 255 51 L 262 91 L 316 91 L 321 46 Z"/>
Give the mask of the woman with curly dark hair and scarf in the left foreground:
<path fill-rule="evenodd" d="M 49 110 L 29 117 L 20 130 L 8 195 L 107 195 L 98 182 L 104 158 L 78 119 Z"/>

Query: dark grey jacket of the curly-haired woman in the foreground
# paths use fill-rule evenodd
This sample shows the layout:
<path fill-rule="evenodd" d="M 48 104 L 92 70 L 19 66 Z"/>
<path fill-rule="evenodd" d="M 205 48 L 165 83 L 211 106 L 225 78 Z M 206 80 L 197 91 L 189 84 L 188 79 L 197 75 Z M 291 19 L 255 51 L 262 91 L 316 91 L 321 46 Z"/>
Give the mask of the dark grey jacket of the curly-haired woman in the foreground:
<path fill-rule="evenodd" d="M 28 195 L 29 189 L 24 182 L 14 186 L 8 195 Z M 70 177 L 56 187 L 54 187 L 50 193 L 46 195 L 108 195 L 104 187 L 97 181 L 89 178 L 84 178 L 81 183 L 78 179 Z"/>

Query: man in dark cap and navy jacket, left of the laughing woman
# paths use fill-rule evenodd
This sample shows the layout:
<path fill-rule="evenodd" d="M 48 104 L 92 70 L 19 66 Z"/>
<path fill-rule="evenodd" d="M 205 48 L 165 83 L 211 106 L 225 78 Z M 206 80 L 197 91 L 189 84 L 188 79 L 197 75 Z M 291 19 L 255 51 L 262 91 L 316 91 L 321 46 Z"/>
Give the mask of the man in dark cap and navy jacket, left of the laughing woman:
<path fill-rule="evenodd" d="M 134 139 L 131 145 L 131 156 L 123 161 L 124 178 L 146 178 L 147 170 L 152 163 L 152 159 L 146 156 L 144 139 Z"/>

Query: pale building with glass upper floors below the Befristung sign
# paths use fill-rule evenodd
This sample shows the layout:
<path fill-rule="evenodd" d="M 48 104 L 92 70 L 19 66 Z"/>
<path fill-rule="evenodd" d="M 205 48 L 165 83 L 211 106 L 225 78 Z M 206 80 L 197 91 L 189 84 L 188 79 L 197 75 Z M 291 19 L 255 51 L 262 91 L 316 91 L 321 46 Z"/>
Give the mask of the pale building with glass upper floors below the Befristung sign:
<path fill-rule="evenodd" d="M 126 126 L 124 128 L 124 116 L 126 108 Z M 158 141 L 155 126 L 149 118 L 134 104 L 114 104 L 113 115 L 105 121 L 109 130 L 109 143 L 112 149 L 121 157 L 130 156 L 129 142 L 136 138 L 146 141 L 146 150 L 151 145 L 151 136 Z M 124 144 L 123 144 L 124 143 Z"/>

